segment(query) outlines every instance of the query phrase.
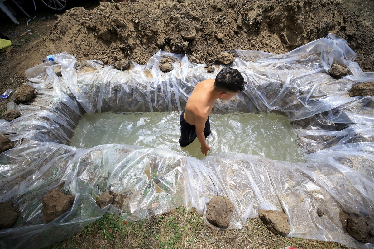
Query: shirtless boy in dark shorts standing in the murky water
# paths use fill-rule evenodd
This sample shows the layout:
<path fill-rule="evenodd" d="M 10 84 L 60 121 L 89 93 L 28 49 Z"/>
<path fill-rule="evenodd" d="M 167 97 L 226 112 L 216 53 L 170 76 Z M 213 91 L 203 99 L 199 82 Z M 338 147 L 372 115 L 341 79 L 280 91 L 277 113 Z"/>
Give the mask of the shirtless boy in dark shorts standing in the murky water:
<path fill-rule="evenodd" d="M 180 116 L 182 147 L 192 143 L 197 137 L 203 154 L 210 151 L 205 138 L 211 134 L 209 113 L 216 99 L 229 100 L 244 90 L 246 83 L 239 71 L 233 68 L 223 68 L 215 80 L 203 80 L 192 91 L 186 103 L 186 110 Z"/>

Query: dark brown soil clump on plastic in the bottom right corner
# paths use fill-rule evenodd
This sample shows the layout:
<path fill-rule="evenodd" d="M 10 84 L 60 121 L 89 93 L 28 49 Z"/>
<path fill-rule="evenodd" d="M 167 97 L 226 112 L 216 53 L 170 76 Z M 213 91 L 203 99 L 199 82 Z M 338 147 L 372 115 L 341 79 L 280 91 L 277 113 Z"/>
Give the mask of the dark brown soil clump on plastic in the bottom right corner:
<path fill-rule="evenodd" d="M 344 230 L 350 236 L 361 243 L 372 243 L 374 239 L 374 224 L 365 218 L 356 215 L 350 215 L 346 212 L 340 211 L 340 222 Z"/>

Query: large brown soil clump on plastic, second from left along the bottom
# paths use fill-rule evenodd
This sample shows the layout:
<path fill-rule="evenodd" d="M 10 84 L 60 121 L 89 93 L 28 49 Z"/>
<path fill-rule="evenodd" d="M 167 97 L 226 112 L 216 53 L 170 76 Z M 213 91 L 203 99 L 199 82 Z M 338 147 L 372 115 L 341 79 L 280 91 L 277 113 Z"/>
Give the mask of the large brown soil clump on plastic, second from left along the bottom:
<path fill-rule="evenodd" d="M 71 206 L 73 206 L 75 196 L 63 194 L 56 189 L 52 189 L 43 198 L 43 219 L 46 223 L 55 220 L 64 214 Z"/>

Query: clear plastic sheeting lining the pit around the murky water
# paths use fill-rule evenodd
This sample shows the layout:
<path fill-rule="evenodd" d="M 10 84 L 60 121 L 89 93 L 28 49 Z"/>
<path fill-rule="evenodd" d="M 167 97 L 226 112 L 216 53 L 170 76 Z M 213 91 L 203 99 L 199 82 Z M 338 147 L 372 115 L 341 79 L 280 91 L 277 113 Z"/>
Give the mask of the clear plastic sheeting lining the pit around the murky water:
<path fill-rule="evenodd" d="M 19 118 L 0 120 L 0 132 L 16 145 L 0 155 L 0 201 L 20 211 L 15 225 L 0 231 L 0 248 L 41 248 L 105 212 L 133 221 L 185 205 L 204 214 L 217 195 L 234 204 L 228 228 L 242 228 L 258 209 L 284 210 L 289 237 L 374 248 L 374 241 L 353 239 L 339 220 L 344 210 L 374 223 L 374 99 L 347 94 L 354 84 L 374 81 L 374 73 L 362 72 L 353 50 L 333 34 L 283 55 L 232 53 L 237 55 L 232 67 L 248 87 L 230 101 L 217 100 L 213 112 L 283 113 L 309 154 L 306 162 L 228 153 L 199 160 L 124 144 L 68 146 L 85 112 L 181 112 L 194 86 L 215 78 L 218 70 L 208 74 L 187 55 L 161 51 L 147 65 L 134 64 L 125 72 L 98 61 L 77 67 L 75 57 L 60 53 L 55 62 L 26 71 L 37 94 L 28 103 L 8 106 L 22 113 Z M 162 57 L 172 57 L 174 70 L 159 70 Z M 327 73 L 332 63 L 345 65 L 350 75 L 332 78 Z M 61 77 L 52 70 L 59 65 Z M 51 189 L 76 198 L 65 214 L 44 224 L 42 199 Z M 100 209 L 95 199 L 102 192 L 115 200 Z"/>

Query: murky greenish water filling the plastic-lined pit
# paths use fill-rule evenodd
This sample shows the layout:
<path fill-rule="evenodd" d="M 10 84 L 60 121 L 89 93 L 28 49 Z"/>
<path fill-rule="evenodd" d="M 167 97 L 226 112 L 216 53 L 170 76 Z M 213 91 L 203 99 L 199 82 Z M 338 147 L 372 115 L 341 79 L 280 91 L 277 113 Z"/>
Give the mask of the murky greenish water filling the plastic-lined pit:
<path fill-rule="evenodd" d="M 180 147 L 180 113 L 103 113 L 80 120 L 71 146 L 91 148 L 119 143 L 174 150 L 185 156 L 203 158 L 197 139 Z M 249 153 L 274 160 L 302 161 L 302 150 L 287 119 L 274 113 L 231 113 L 210 116 L 212 134 L 206 139 L 213 153 Z"/>

